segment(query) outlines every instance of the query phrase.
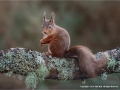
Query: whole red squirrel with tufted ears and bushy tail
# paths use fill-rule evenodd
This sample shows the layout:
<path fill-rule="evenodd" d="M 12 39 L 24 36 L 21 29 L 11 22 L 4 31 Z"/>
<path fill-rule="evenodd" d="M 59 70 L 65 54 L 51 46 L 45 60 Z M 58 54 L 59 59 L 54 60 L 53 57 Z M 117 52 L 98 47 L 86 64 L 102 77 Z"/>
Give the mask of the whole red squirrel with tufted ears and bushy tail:
<path fill-rule="evenodd" d="M 57 26 L 54 22 L 54 13 L 51 13 L 50 20 L 46 19 L 46 13 L 43 14 L 42 33 L 43 39 L 40 40 L 40 46 L 48 44 L 47 55 L 58 58 L 78 58 L 80 71 L 88 77 L 96 77 L 97 73 L 107 65 L 108 59 L 103 55 L 99 60 L 95 58 L 88 47 L 77 45 L 69 49 L 69 33 Z"/>

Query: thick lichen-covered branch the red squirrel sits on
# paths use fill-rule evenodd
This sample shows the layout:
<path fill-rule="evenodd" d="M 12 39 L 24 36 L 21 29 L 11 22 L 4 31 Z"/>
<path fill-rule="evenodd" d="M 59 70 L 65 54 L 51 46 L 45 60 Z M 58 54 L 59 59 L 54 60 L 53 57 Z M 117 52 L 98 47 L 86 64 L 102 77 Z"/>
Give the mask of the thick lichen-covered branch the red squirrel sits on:
<path fill-rule="evenodd" d="M 98 52 L 95 54 L 96 58 L 102 56 L 103 53 L 104 52 Z M 98 75 L 104 72 L 119 73 L 120 48 L 108 50 L 105 51 L 105 53 L 108 54 L 109 63 Z M 31 81 L 37 83 L 37 80 L 44 80 L 44 78 L 57 80 L 89 78 L 87 75 L 82 74 L 75 58 L 60 59 L 25 48 L 0 50 L 0 73 L 7 73 L 8 75 L 14 73 L 26 76 L 26 84 L 28 87 L 31 87 Z M 105 73 L 103 74 L 104 76 Z M 32 88 L 35 87 L 36 84 L 32 86 Z"/>

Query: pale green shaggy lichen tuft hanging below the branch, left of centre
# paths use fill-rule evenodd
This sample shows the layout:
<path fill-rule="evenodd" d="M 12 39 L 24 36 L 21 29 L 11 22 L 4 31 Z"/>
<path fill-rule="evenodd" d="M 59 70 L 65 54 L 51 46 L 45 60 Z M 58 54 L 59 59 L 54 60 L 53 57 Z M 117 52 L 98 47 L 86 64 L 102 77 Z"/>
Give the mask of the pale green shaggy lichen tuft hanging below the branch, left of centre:
<path fill-rule="evenodd" d="M 35 89 L 38 81 L 43 81 L 49 75 L 46 65 L 41 63 L 40 67 L 35 72 L 29 72 L 26 76 L 25 83 L 27 88 Z"/>

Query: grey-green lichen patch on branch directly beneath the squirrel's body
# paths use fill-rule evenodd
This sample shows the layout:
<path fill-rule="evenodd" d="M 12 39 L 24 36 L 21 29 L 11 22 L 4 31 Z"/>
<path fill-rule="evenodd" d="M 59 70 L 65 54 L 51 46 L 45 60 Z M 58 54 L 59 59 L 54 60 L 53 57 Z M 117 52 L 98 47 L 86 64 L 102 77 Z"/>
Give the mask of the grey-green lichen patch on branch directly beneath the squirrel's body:
<path fill-rule="evenodd" d="M 49 57 L 48 61 L 48 69 L 56 69 L 58 72 L 58 79 L 59 80 L 68 80 L 73 78 L 73 72 L 75 69 L 74 60 L 67 61 L 65 58 L 56 58 L 56 57 Z"/>

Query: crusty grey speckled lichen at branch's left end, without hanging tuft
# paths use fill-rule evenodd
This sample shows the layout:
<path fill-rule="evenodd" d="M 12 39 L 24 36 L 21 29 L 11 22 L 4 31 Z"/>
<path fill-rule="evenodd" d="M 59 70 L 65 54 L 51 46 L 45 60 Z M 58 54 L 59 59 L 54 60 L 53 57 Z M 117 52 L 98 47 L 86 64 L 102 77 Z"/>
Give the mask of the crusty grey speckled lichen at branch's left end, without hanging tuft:
<path fill-rule="evenodd" d="M 40 56 L 40 53 L 31 50 L 26 51 L 24 48 L 11 48 L 2 53 L 0 56 L 0 72 L 7 70 L 24 75 L 37 68 L 39 65 L 37 56 Z"/>

